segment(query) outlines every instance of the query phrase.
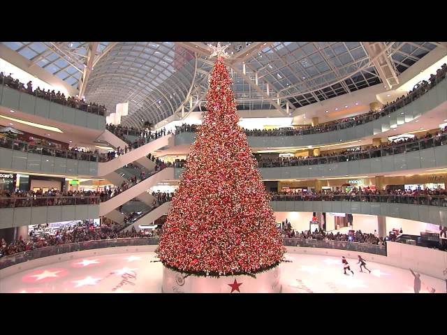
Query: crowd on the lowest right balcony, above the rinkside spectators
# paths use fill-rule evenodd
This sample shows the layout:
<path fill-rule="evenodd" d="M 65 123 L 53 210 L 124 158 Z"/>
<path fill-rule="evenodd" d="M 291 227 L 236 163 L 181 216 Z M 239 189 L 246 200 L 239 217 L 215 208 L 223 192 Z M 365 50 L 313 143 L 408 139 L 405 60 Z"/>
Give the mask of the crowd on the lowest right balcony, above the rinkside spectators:
<path fill-rule="evenodd" d="M 287 193 L 270 193 L 272 201 L 362 201 L 391 202 L 402 204 L 427 204 L 447 207 L 447 191 L 444 188 L 435 190 L 372 190 L 368 187 L 354 187 L 351 191 L 297 191 Z"/>

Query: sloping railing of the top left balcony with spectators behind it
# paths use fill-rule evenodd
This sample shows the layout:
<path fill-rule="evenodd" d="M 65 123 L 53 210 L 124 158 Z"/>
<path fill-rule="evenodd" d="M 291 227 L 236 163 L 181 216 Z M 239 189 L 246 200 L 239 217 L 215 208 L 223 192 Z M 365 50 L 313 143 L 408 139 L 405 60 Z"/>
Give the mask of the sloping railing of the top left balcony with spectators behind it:
<path fill-rule="evenodd" d="M 66 98 L 65 96 L 57 94 L 49 94 L 47 91 L 37 91 L 37 89 L 34 89 L 34 91 L 31 91 L 29 89 L 24 88 L 24 84 L 22 82 L 18 82 L 18 80 L 15 80 L 12 77 L 8 77 L 6 75 L 0 76 L 0 84 L 3 86 L 9 87 L 10 89 L 15 89 L 17 91 L 20 91 L 24 94 L 29 94 L 31 96 L 36 96 L 36 98 L 41 98 L 47 101 L 51 101 L 53 103 L 58 103 L 59 105 L 68 106 L 71 108 L 74 108 L 75 110 L 82 110 L 84 112 L 88 112 L 91 114 L 98 114 L 102 117 L 107 114 L 107 109 L 105 107 L 102 107 L 100 105 L 93 105 L 90 103 L 85 103 L 79 100 L 75 100 L 74 98 Z M 54 91 L 54 90 L 53 90 Z"/>

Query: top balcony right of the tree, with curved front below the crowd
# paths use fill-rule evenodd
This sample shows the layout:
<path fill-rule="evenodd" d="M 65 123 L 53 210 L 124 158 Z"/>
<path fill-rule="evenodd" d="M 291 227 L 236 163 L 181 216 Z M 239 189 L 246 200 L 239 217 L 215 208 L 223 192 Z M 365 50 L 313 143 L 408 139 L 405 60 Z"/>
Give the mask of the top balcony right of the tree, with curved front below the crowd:
<path fill-rule="evenodd" d="M 416 95 L 415 95 L 416 94 Z M 414 95 L 414 96 L 413 96 Z M 406 104 L 405 104 L 406 101 Z M 383 108 L 380 113 L 360 116 L 360 121 L 340 122 L 334 130 L 322 132 L 318 126 L 303 129 L 302 135 L 281 135 L 287 129 L 251 135 L 247 132 L 247 140 L 251 148 L 286 148 L 315 147 L 316 145 L 349 142 L 364 137 L 380 137 L 381 133 L 408 124 L 420 117 L 428 119 L 434 114 L 444 113 L 447 108 L 447 80 L 439 77 L 437 84 L 420 95 L 417 92 L 409 94 L 392 105 Z M 445 118 L 445 114 L 444 114 Z M 428 121 L 428 120 L 427 120 Z M 425 122 L 425 121 L 424 121 Z M 324 126 L 324 125 L 321 125 Z M 175 135 L 175 145 L 191 144 L 196 138 L 195 133 L 181 132 Z"/>

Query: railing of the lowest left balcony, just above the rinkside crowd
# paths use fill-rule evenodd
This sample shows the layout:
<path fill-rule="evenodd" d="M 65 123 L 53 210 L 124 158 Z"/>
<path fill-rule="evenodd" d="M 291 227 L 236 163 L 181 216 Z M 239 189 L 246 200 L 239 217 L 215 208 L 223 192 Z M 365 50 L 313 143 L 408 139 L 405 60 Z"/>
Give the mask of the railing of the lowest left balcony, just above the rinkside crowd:
<path fill-rule="evenodd" d="M 22 208 L 22 207 L 44 207 L 44 206 L 71 206 L 77 204 L 99 204 L 99 197 L 82 196 L 82 197 L 17 197 L 17 198 L 0 198 L 0 208 Z"/>

